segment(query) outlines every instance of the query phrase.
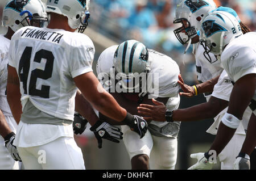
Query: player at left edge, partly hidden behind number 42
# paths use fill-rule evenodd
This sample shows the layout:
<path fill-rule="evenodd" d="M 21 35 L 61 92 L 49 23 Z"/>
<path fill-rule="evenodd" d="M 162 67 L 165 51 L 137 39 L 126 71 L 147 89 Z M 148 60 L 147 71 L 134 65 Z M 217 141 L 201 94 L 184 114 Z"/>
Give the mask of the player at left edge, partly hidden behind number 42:
<path fill-rule="evenodd" d="M 46 9 L 41 1 L 7 1 L 3 9 L 2 23 L 8 30 L 5 35 L 0 35 L 0 134 L 3 137 L 0 137 L 0 169 L 19 169 L 20 164 L 15 161 L 21 161 L 21 159 L 13 145 L 18 125 L 6 99 L 9 45 L 11 37 L 19 28 L 24 26 L 46 27 L 48 23 Z M 11 156 L 5 147 L 10 151 Z"/>

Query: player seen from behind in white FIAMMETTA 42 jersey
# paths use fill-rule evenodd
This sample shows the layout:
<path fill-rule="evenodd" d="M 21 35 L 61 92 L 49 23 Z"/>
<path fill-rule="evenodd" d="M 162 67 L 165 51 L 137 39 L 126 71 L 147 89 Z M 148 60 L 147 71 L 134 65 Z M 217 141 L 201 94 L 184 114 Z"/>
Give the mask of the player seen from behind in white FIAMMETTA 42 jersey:
<path fill-rule="evenodd" d="M 46 8 L 51 15 L 47 28 L 20 28 L 11 38 L 7 99 L 19 123 L 13 144 L 25 169 L 85 169 L 72 128 L 77 87 L 94 108 L 141 138 L 147 123 L 98 86 L 92 40 L 75 32 L 88 24 L 89 1 L 48 0 Z M 92 124 L 100 136 L 112 129 L 99 121 Z"/>

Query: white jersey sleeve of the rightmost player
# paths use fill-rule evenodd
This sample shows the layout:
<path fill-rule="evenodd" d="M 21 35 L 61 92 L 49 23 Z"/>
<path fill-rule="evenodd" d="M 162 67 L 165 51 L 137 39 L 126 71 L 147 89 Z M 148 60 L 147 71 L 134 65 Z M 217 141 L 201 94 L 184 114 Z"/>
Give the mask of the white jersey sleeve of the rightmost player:
<path fill-rule="evenodd" d="M 234 82 L 247 74 L 256 73 L 256 52 L 251 47 L 240 47 L 232 53 L 226 53 L 222 58 L 224 69 Z"/>

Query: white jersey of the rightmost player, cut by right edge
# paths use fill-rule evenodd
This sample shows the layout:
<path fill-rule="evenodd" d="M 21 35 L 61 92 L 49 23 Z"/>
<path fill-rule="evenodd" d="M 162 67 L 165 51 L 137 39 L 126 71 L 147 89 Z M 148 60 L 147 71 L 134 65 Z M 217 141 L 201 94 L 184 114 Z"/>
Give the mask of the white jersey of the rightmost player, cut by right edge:
<path fill-rule="evenodd" d="M 246 33 L 231 41 L 221 54 L 221 62 L 233 82 L 247 74 L 255 74 L 256 32 Z M 256 100 L 256 94 L 253 99 Z"/>

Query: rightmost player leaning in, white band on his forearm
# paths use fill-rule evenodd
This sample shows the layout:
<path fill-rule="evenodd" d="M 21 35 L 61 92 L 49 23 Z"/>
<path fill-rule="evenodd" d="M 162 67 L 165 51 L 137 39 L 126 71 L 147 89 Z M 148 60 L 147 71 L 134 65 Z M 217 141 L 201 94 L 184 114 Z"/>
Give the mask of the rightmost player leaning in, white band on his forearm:
<path fill-rule="evenodd" d="M 200 39 L 205 54 L 211 52 L 221 56 L 221 64 L 234 84 L 228 111 L 221 119 L 210 150 L 216 150 L 219 154 L 224 149 L 240 125 L 246 107 L 250 104 L 253 113 L 245 141 L 234 162 L 234 169 L 250 169 L 250 154 L 256 146 L 256 33 L 249 32 L 243 35 L 240 24 L 234 16 L 228 12 L 214 11 L 201 24 Z M 207 159 L 208 152 L 205 153 Z"/>

